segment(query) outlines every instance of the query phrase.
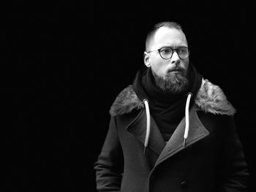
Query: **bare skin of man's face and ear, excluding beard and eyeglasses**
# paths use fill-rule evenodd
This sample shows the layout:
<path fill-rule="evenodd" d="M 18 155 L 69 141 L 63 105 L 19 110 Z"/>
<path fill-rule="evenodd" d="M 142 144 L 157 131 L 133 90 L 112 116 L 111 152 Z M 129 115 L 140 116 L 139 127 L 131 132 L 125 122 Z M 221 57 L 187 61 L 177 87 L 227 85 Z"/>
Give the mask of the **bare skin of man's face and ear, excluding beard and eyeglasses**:
<path fill-rule="evenodd" d="M 159 28 L 151 42 L 150 51 L 158 50 L 162 47 L 172 47 L 173 49 L 177 47 L 188 47 L 185 34 L 176 28 Z M 168 60 L 163 59 L 158 51 L 146 53 L 144 61 L 146 66 L 151 66 L 154 74 L 157 74 L 157 76 L 163 79 L 177 74 L 182 75 L 181 71 L 175 70 L 176 66 L 179 69 L 184 69 L 185 73 L 189 66 L 189 58 L 180 59 L 176 51 L 173 52 L 172 57 Z"/>

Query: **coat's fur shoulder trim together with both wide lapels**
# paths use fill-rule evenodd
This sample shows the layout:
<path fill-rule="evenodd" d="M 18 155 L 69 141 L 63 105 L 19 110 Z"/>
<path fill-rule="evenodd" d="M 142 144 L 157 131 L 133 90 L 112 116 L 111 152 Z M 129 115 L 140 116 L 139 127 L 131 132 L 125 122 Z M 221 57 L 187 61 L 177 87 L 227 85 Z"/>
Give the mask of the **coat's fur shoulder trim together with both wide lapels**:
<path fill-rule="evenodd" d="M 126 126 L 127 131 L 135 135 L 135 137 L 144 144 L 146 137 L 146 110 L 144 110 L 143 102 L 138 99 L 132 85 L 129 85 L 124 91 L 117 96 L 112 107 L 110 108 L 110 115 L 124 115 L 132 110 L 140 110 L 138 115 Z M 162 137 L 162 134 L 157 127 L 154 118 L 151 117 L 151 133 L 148 141 L 148 149 L 153 150 L 159 156 L 154 166 L 157 166 L 165 159 L 170 158 L 181 150 L 193 145 L 195 142 L 206 137 L 209 132 L 203 126 L 197 116 L 197 110 L 211 112 L 221 115 L 233 115 L 236 110 L 227 101 L 225 94 L 217 85 L 213 85 L 208 80 L 202 80 L 200 90 L 195 97 L 195 104 L 189 110 L 189 137 L 187 144 L 184 147 L 184 130 L 185 118 L 181 120 L 176 130 L 173 132 L 167 144 Z"/>

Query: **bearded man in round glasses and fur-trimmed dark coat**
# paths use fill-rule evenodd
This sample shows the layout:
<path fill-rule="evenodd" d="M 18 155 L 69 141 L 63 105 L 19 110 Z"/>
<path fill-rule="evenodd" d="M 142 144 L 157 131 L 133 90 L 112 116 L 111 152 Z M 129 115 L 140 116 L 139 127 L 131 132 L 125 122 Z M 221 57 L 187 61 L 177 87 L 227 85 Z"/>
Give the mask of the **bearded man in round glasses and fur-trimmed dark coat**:
<path fill-rule="evenodd" d="M 94 164 L 97 190 L 246 191 L 236 110 L 189 64 L 178 23 L 154 26 L 144 64 L 110 108 L 110 128 Z"/>

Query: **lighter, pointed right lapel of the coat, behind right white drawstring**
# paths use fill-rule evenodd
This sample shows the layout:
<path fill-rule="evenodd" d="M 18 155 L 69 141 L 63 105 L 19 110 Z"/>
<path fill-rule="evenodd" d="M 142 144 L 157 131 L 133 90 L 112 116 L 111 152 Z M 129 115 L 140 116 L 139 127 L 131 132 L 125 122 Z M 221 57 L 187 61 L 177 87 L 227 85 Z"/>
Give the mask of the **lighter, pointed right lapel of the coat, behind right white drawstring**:
<path fill-rule="evenodd" d="M 178 153 L 181 150 L 184 150 L 186 147 L 189 147 L 195 142 L 198 142 L 200 139 L 208 136 L 208 130 L 200 122 L 200 119 L 197 116 L 197 112 L 194 108 L 189 110 L 189 135 L 187 138 L 186 146 L 184 147 L 184 131 L 185 131 L 185 118 L 181 120 L 181 123 L 178 124 L 178 127 L 173 132 L 172 137 L 167 142 L 167 145 L 162 150 L 162 153 L 159 155 L 155 166 L 160 164 L 162 161 L 165 161 L 167 158 L 170 158 L 174 154 Z"/>

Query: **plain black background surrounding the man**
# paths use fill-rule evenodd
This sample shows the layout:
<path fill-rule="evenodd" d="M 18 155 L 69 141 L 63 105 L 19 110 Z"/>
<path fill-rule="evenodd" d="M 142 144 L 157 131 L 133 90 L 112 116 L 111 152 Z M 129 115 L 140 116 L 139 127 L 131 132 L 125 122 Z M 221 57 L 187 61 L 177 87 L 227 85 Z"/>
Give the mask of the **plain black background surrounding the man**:
<path fill-rule="evenodd" d="M 183 26 L 190 61 L 238 110 L 255 191 L 252 4 L 230 2 L 9 1 L 1 36 L 6 191 L 95 191 L 108 110 L 162 20 Z"/>

